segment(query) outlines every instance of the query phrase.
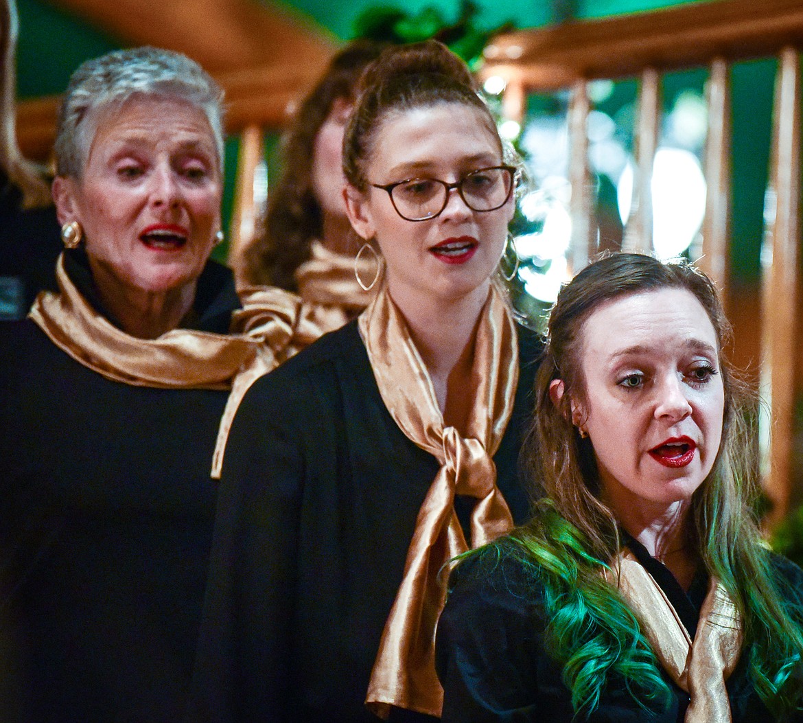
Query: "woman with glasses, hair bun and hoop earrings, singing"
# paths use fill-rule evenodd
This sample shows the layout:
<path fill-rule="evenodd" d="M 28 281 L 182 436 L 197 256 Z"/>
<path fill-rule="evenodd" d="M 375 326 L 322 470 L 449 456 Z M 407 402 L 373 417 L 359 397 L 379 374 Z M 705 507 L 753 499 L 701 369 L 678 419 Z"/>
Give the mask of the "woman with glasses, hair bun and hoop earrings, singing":
<path fill-rule="evenodd" d="M 385 51 L 344 174 L 377 295 L 239 407 L 193 721 L 439 717 L 440 570 L 528 517 L 541 343 L 498 282 L 516 169 L 462 61 L 434 41 Z"/>

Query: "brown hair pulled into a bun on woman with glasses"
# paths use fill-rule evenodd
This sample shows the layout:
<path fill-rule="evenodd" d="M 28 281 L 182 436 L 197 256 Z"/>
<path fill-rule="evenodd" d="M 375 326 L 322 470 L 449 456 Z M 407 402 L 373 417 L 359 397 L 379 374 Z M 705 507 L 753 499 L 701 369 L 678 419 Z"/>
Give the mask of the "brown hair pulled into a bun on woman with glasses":
<path fill-rule="evenodd" d="M 494 119 L 466 63 L 437 40 L 389 47 L 365 69 L 357 88 L 357 104 L 343 138 L 343 172 L 349 183 L 367 189 L 365 166 L 386 116 L 441 103 L 479 110 L 502 150 Z"/>

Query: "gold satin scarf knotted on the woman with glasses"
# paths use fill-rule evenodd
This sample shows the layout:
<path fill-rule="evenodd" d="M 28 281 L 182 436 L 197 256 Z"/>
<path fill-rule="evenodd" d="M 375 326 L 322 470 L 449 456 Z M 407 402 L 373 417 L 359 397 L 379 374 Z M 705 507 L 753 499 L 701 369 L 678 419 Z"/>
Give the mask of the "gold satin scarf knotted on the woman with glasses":
<path fill-rule="evenodd" d="M 366 705 L 381 717 L 390 707 L 440 717 L 443 691 L 434 667 L 434 635 L 446 585 L 438 574 L 468 545 L 454 495 L 475 497 L 471 545 L 484 545 L 512 529 L 507 503 L 496 486 L 491 459 L 513 410 L 519 378 L 516 325 L 501 292 L 491 287 L 476 332 L 474 395 L 466 436 L 444 427 L 430 375 L 402 313 L 383 286 L 359 320 L 373 374 L 390 415 L 405 435 L 441 464 L 418 513 L 413 540 L 379 652 Z"/>

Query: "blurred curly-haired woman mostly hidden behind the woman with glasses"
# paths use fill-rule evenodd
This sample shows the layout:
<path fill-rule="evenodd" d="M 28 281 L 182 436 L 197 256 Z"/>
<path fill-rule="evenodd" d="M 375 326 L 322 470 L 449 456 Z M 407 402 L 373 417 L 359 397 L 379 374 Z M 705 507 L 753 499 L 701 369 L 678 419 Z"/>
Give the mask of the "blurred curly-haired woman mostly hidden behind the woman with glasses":
<path fill-rule="evenodd" d="M 361 242 L 343 201 L 343 131 L 357 80 L 383 47 L 350 43 L 300 105 L 283 139 L 264 233 L 244 253 L 245 283 L 298 292 L 325 330 L 339 329 L 371 300 L 358 278 L 370 280 L 377 259 L 355 259 Z"/>

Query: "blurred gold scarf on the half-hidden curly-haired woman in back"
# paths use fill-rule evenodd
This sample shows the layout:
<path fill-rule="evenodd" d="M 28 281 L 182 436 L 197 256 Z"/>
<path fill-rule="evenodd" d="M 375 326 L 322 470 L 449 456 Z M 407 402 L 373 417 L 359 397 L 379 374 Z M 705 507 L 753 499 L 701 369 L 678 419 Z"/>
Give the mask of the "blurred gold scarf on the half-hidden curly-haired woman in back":
<path fill-rule="evenodd" d="M 363 291 L 354 277 L 354 257 L 329 251 L 320 241 L 312 242 L 312 258 L 296 269 L 299 296 L 310 307 L 310 319 L 324 332 L 340 329 L 357 316 L 375 292 Z M 373 279 L 377 265 L 359 259 L 361 279 Z"/>

